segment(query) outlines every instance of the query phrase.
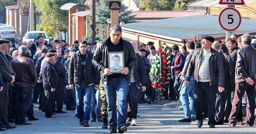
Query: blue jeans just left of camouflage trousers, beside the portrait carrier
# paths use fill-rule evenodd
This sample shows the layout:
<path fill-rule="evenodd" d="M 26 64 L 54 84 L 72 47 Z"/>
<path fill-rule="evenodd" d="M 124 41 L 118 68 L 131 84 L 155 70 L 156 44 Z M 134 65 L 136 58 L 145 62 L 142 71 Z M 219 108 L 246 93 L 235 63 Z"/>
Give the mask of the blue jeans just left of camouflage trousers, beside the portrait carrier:
<path fill-rule="evenodd" d="M 92 96 L 91 96 L 91 113 L 92 113 L 92 118 L 101 118 L 100 115 L 100 106 L 101 106 L 101 99 L 100 99 L 100 90 L 99 89 L 94 89 L 92 91 Z M 96 104 L 96 105 L 95 105 Z"/>

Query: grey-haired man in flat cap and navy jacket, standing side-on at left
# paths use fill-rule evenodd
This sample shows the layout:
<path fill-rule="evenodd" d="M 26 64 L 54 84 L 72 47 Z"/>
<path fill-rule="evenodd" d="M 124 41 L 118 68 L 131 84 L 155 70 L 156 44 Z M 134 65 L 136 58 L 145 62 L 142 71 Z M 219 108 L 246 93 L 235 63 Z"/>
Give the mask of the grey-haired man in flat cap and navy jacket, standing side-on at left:
<path fill-rule="evenodd" d="M 42 65 L 42 83 L 45 88 L 46 95 L 46 104 L 45 104 L 45 115 L 46 118 L 56 118 L 56 115 L 53 115 L 53 104 L 54 104 L 54 95 L 55 87 L 58 82 L 58 76 L 54 68 L 56 63 L 56 55 L 54 53 L 46 54 L 46 61 Z"/>

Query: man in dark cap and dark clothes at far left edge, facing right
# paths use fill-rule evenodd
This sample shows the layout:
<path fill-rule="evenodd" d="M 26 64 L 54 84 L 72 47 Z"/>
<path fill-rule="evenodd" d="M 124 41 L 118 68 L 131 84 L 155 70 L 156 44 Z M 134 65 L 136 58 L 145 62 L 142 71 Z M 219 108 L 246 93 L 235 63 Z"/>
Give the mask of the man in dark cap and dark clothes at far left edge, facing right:
<path fill-rule="evenodd" d="M 3 91 L 0 92 L 0 130 L 15 128 L 8 122 L 8 105 L 9 105 L 9 84 L 13 84 L 15 73 L 8 58 L 9 40 L 0 39 L 0 71 L 3 78 Z"/>

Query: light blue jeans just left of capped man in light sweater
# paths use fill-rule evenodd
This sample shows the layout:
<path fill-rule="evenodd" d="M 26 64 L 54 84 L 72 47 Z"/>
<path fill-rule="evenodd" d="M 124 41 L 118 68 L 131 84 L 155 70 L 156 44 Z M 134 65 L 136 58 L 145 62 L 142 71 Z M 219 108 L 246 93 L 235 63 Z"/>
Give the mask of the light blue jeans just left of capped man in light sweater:
<path fill-rule="evenodd" d="M 185 85 L 185 83 L 183 82 L 181 87 L 180 101 L 183 106 L 185 118 L 191 118 L 195 115 L 194 91 L 195 91 L 195 80 L 194 80 L 194 77 L 191 76 L 189 80 L 189 84 Z"/>

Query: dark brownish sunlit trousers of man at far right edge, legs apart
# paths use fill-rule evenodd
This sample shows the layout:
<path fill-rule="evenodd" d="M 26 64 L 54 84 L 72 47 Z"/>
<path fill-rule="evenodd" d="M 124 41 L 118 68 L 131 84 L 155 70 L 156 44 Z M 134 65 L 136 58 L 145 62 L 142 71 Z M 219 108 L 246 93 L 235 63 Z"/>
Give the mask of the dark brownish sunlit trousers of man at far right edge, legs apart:
<path fill-rule="evenodd" d="M 242 103 L 242 97 L 246 94 L 247 106 L 246 106 L 246 122 L 249 125 L 254 123 L 254 109 L 255 109 L 255 85 L 249 85 L 244 82 L 236 83 L 236 90 L 234 91 L 234 100 L 232 103 L 232 109 L 229 116 L 229 123 L 237 123 L 237 115 Z"/>

